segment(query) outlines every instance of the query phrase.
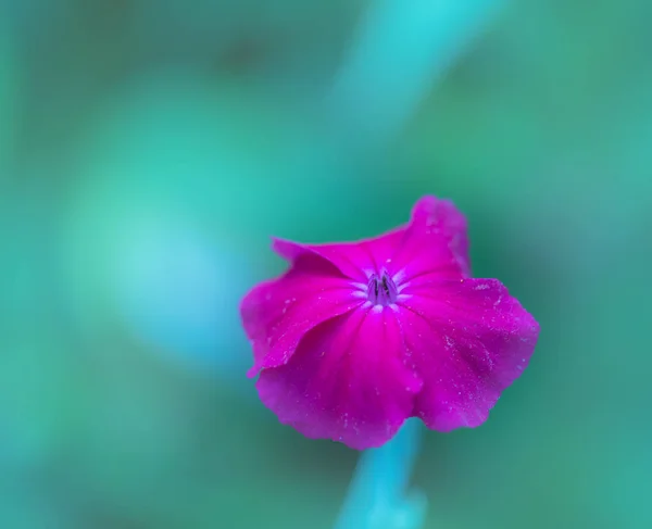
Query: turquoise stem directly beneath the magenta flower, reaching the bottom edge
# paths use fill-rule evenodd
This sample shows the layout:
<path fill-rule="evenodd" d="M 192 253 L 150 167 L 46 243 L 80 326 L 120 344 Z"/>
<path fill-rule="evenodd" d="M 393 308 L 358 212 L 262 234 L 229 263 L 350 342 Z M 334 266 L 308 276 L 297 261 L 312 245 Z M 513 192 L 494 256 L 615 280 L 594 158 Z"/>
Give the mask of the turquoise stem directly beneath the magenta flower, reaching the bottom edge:
<path fill-rule="evenodd" d="M 362 453 L 335 529 L 418 529 L 426 515 L 419 491 L 406 493 L 423 426 L 409 419 L 379 449 Z"/>

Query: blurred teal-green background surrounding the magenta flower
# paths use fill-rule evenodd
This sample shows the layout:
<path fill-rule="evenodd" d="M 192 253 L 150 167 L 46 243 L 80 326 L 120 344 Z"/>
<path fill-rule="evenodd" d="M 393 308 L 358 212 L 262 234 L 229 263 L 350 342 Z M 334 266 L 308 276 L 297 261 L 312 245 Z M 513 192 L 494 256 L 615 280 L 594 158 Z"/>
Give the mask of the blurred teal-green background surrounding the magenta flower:
<path fill-rule="evenodd" d="M 2 1 L 0 528 L 331 527 L 358 454 L 261 405 L 238 302 L 271 235 L 425 193 L 542 328 L 426 433 L 426 527 L 652 527 L 652 3 L 496 2 L 441 58 L 394 1 L 356 63 L 373 3 Z"/>

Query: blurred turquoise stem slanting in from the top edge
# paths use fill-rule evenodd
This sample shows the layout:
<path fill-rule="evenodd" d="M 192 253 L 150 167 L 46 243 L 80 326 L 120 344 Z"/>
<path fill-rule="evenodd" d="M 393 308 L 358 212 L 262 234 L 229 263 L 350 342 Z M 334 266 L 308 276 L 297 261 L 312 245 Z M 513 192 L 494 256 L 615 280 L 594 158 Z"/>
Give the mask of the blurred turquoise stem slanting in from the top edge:
<path fill-rule="evenodd" d="M 333 88 L 353 138 L 386 142 L 504 0 L 372 0 Z"/>

